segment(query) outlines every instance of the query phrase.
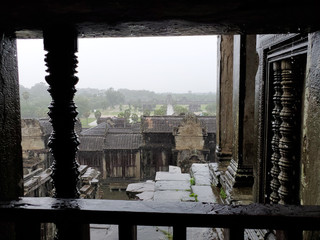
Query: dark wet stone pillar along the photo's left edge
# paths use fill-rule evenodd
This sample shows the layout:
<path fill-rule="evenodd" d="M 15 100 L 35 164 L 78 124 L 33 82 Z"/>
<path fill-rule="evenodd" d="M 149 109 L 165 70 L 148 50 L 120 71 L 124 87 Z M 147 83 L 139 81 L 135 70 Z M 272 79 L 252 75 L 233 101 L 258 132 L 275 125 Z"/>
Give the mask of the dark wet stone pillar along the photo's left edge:
<path fill-rule="evenodd" d="M 0 32 L 0 200 L 23 195 L 21 123 L 16 40 Z M 1 239 L 16 239 L 15 226 L 0 223 Z"/>

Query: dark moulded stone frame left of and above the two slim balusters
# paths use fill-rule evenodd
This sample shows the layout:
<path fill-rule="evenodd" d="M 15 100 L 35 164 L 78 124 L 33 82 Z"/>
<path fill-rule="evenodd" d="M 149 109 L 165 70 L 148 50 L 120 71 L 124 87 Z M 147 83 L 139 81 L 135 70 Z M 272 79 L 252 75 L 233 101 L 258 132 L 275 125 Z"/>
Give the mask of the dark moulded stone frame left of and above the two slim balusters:
<path fill-rule="evenodd" d="M 289 47 L 291 45 L 291 48 Z M 294 48 L 298 46 L 297 48 Z M 305 34 L 278 34 L 258 35 L 257 53 L 259 55 L 259 68 L 255 79 L 255 149 L 257 161 L 254 163 L 254 201 L 268 203 L 267 195 L 270 191 L 271 162 L 270 155 L 272 132 L 272 82 L 270 64 L 276 60 L 302 55 L 307 53 L 308 37 Z"/>

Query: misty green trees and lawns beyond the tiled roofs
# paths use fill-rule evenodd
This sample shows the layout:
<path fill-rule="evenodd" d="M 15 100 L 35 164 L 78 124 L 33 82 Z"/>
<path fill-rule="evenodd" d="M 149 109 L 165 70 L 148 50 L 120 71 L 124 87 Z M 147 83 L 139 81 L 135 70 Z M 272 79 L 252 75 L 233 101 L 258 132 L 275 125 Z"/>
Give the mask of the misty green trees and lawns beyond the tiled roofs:
<path fill-rule="evenodd" d="M 51 96 L 46 83 L 37 83 L 31 88 L 20 85 L 20 106 L 22 118 L 46 118 Z M 214 93 L 171 93 L 176 115 L 188 112 L 188 105 L 177 105 L 177 101 L 215 101 Z M 147 90 L 77 89 L 74 102 L 83 126 L 88 127 L 91 118 L 122 116 L 129 122 L 138 122 L 141 115 L 163 116 L 166 114 L 168 93 Z M 146 108 L 144 105 L 148 105 Z M 202 104 L 202 115 L 215 114 L 215 103 Z"/>

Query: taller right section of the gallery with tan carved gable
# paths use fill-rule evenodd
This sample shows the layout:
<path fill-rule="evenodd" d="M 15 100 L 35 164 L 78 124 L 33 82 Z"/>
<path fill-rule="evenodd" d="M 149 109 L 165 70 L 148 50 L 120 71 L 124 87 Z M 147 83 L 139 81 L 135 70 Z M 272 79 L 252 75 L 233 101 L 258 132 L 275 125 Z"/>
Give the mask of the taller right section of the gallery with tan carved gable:
<path fill-rule="evenodd" d="M 143 174 L 151 179 L 157 171 L 168 171 L 169 165 L 188 172 L 192 163 L 214 161 L 215 117 L 143 117 L 141 125 Z"/>

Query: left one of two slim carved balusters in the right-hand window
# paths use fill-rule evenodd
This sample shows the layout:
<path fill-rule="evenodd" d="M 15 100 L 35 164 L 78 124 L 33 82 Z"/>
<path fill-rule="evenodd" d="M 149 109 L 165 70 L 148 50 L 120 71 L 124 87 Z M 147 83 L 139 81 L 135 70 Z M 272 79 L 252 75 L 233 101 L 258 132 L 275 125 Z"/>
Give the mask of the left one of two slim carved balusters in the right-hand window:
<path fill-rule="evenodd" d="M 271 147 L 272 147 L 272 155 L 271 155 L 271 183 L 270 188 L 272 193 L 270 195 L 270 201 L 272 203 L 278 203 L 280 200 L 278 190 L 280 187 L 280 182 L 278 180 L 280 168 L 279 168 L 279 159 L 280 159 L 280 152 L 279 152 L 279 142 L 280 142 L 280 112 L 281 112 L 281 68 L 280 62 L 273 63 L 273 87 L 274 87 L 274 95 L 273 95 L 273 110 L 272 110 L 272 140 L 271 140 Z"/>

